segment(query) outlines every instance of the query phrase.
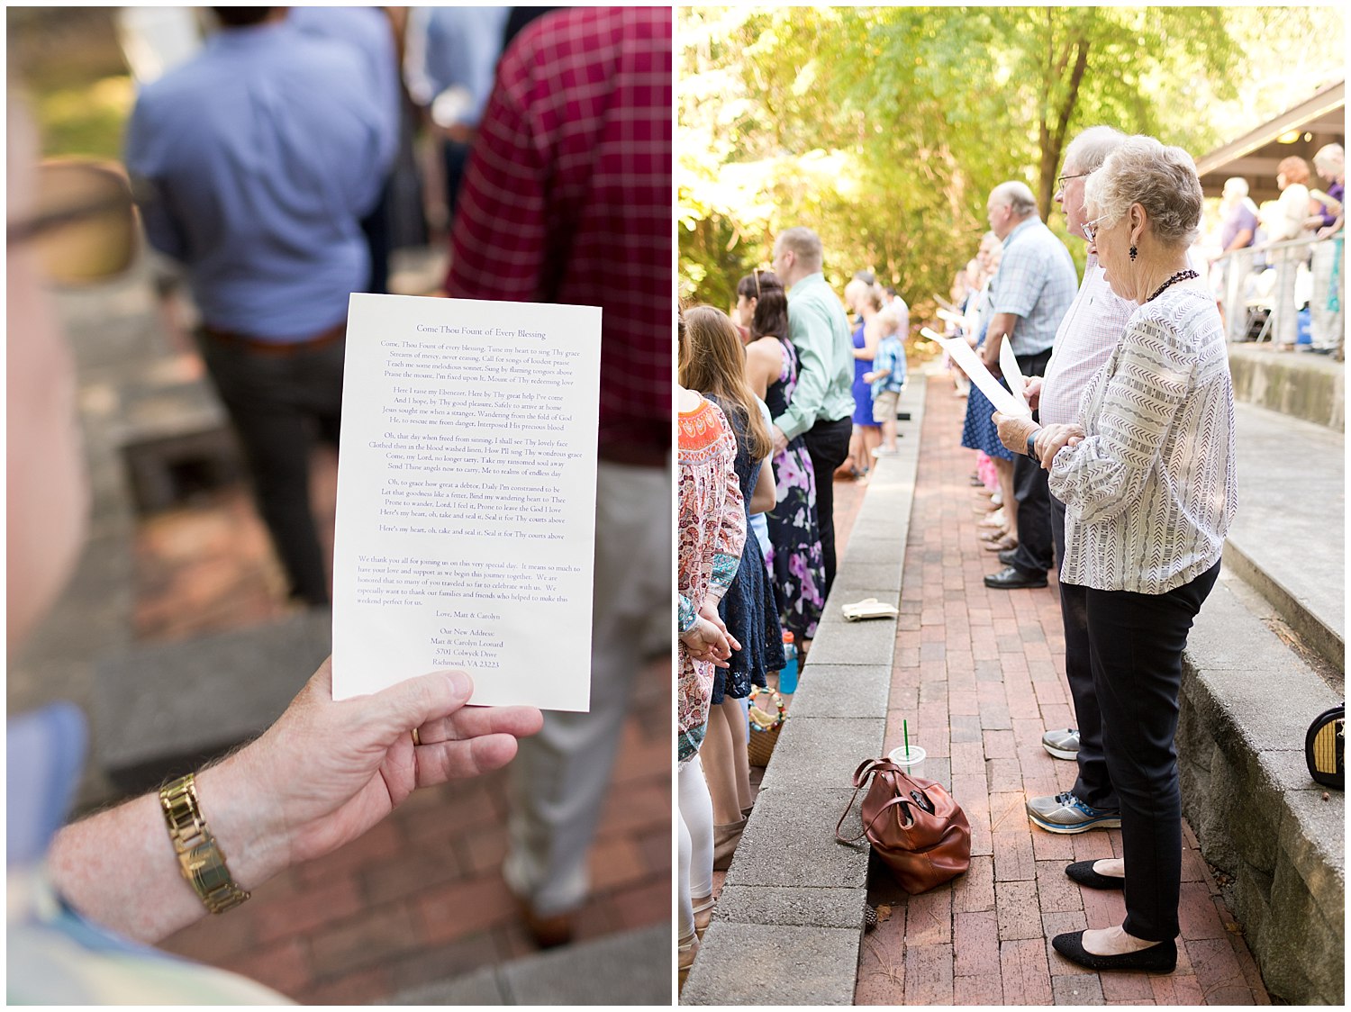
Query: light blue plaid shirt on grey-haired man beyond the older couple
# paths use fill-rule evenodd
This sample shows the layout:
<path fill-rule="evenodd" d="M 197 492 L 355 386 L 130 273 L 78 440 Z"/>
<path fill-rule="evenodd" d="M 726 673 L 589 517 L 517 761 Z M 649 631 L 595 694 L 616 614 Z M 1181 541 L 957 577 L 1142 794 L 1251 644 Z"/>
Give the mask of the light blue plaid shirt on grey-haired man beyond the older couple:
<path fill-rule="evenodd" d="M 1035 355 L 1055 343 L 1055 331 L 1078 288 L 1070 251 L 1040 218 L 1028 218 L 1004 236 L 990 296 L 994 312 L 1023 318 L 1013 328 L 1013 354 Z"/>

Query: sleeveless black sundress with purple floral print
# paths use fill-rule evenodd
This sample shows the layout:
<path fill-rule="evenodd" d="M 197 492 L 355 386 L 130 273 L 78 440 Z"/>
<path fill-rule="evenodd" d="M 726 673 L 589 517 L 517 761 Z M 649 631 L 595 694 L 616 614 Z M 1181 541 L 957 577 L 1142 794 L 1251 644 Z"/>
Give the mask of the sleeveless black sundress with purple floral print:
<path fill-rule="evenodd" d="M 797 350 L 793 342 L 778 339 L 784 369 L 765 392 L 765 403 L 778 418 L 793 400 L 797 386 Z M 801 643 L 816 635 L 816 623 L 825 607 L 825 562 L 821 535 L 816 526 L 816 472 L 801 435 L 788 449 L 774 454 L 777 503 L 769 513 L 770 553 L 766 563 L 774 574 L 774 599 L 780 624 Z"/>

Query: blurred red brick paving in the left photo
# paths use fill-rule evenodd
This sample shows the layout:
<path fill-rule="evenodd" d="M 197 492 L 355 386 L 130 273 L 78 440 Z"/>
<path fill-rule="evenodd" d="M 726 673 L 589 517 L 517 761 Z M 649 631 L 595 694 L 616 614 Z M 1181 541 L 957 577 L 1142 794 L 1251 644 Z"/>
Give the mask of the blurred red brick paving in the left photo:
<path fill-rule="evenodd" d="M 335 472 L 316 466 L 331 526 Z M 331 530 L 331 527 L 330 527 Z M 331 543 L 331 540 L 330 540 Z M 240 628 L 286 612 L 282 577 L 235 486 L 146 520 L 136 543 L 142 640 Z M 190 601 L 190 607 L 184 607 Z M 671 917 L 671 672 L 643 670 L 615 766 L 577 940 Z M 654 731 L 655 728 L 655 731 Z M 534 951 L 499 871 L 505 771 L 413 794 L 359 840 L 278 876 L 165 948 L 308 1004 L 380 1003 Z"/>

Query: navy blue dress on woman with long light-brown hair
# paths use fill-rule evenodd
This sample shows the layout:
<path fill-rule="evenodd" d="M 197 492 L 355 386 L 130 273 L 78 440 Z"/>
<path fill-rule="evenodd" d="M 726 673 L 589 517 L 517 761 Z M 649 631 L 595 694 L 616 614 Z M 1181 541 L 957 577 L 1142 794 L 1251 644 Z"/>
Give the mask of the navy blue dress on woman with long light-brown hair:
<path fill-rule="evenodd" d="M 731 667 L 713 669 L 713 705 L 723 696 L 734 700 L 751 694 L 751 684 L 765 685 L 765 673 L 777 672 L 786 663 L 784 658 L 784 631 L 778 624 L 778 605 L 774 600 L 774 585 L 769 578 L 765 555 L 759 539 L 750 531 L 751 493 L 759 480 L 763 461 L 751 459 L 746 449 L 746 419 L 735 408 L 717 397 L 709 397 L 732 423 L 736 434 L 736 477 L 740 481 L 742 497 L 746 500 L 746 547 L 742 549 L 742 563 L 736 567 L 736 578 L 717 605 L 717 613 L 727 624 L 727 631 L 740 642 L 742 649 L 734 650 Z"/>

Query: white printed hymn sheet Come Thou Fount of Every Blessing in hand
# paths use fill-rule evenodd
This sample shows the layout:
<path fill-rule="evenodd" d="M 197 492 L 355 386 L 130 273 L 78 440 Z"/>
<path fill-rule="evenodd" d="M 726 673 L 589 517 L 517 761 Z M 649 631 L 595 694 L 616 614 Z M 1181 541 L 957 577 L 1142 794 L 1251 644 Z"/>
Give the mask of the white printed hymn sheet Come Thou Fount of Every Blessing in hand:
<path fill-rule="evenodd" d="M 353 295 L 343 384 L 334 699 L 586 711 L 600 309 Z"/>

